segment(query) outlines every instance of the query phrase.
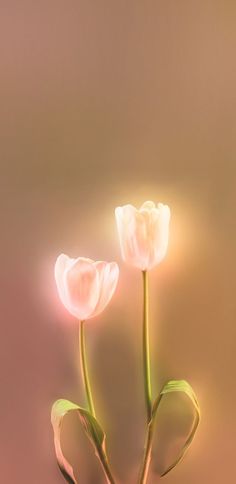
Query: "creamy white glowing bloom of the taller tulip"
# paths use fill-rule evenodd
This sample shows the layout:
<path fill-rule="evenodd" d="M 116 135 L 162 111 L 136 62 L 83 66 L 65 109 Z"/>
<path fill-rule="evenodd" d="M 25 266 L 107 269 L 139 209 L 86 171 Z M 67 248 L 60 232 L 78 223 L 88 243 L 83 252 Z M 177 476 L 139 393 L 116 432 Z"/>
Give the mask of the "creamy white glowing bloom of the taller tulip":
<path fill-rule="evenodd" d="M 164 258 L 169 239 L 168 205 L 145 202 L 138 210 L 124 205 L 115 210 L 122 258 L 146 271 Z"/>

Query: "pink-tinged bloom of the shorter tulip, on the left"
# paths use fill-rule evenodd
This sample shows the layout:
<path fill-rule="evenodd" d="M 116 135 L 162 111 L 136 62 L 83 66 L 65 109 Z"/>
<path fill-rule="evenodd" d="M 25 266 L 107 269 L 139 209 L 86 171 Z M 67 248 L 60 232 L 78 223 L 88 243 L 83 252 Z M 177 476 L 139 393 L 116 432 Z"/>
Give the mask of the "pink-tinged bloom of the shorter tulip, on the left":
<path fill-rule="evenodd" d="M 100 314 L 117 286 L 119 267 L 115 262 L 94 262 L 59 255 L 55 279 L 60 299 L 66 309 L 80 321 Z"/>

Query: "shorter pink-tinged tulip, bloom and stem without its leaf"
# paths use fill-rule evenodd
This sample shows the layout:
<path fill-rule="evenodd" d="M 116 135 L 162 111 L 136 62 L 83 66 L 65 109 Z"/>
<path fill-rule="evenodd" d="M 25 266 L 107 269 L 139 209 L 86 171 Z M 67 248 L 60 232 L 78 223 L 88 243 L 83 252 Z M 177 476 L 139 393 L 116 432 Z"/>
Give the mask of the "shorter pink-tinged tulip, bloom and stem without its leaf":
<path fill-rule="evenodd" d="M 105 309 L 115 292 L 118 278 L 119 267 L 115 262 L 94 262 L 93 260 L 84 257 L 71 259 L 65 254 L 61 254 L 56 260 L 55 279 L 60 299 L 69 313 L 75 316 L 80 324 L 79 341 L 81 371 L 88 409 L 93 419 L 96 419 L 96 414 L 87 366 L 84 323 L 86 320 L 94 318 Z M 93 425 L 94 420 L 92 421 L 92 426 Z M 96 441 L 95 437 L 93 435 L 93 439 Z M 96 441 L 96 445 L 98 443 L 99 442 Z M 114 484 L 115 481 L 107 457 L 104 458 L 103 451 L 101 449 L 99 450 L 99 457 L 104 468 L 107 482 Z M 60 457 L 61 452 L 59 451 L 59 458 Z"/>

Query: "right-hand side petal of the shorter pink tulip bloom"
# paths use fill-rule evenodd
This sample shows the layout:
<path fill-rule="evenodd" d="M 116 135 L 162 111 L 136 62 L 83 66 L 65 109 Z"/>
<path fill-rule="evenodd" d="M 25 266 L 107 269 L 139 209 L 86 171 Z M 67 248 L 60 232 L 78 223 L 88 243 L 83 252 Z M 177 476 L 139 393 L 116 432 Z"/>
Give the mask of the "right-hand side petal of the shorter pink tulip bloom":
<path fill-rule="evenodd" d="M 92 317 L 100 314 L 108 305 L 115 292 L 119 278 L 119 267 L 116 262 L 99 261 L 95 262 L 94 265 L 98 273 L 100 294 Z"/>

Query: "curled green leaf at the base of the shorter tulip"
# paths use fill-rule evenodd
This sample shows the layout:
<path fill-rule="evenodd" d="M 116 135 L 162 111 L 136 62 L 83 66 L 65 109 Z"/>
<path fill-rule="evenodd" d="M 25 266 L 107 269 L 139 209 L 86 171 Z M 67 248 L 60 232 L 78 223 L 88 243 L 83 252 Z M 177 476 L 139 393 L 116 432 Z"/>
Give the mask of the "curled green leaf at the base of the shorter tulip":
<path fill-rule="evenodd" d="M 64 478 L 70 484 L 77 484 L 73 468 L 66 460 L 61 448 L 61 429 L 62 429 L 63 419 L 70 412 L 77 413 L 85 429 L 85 432 L 94 447 L 96 456 L 99 458 L 103 466 L 103 469 L 108 474 L 109 469 L 108 469 L 107 456 L 106 456 L 106 450 L 105 450 L 106 436 L 101 426 L 99 425 L 97 420 L 84 408 L 79 407 L 78 405 L 70 402 L 69 400 L 60 399 L 60 400 L 57 400 L 52 406 L 51 422 L 52 422 L 53 431 L 54 431 L 54 444 L 55 444 L 57 462 Z"/>

